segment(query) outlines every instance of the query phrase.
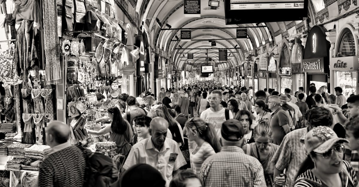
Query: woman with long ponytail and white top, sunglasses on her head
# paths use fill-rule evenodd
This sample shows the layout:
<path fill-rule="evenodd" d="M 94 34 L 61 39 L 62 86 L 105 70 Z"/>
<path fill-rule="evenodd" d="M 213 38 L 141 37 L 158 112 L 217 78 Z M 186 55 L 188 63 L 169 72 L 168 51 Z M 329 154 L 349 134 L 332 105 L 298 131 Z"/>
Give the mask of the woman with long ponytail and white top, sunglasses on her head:
<path fill-rule="evenodd" d="M 220 151 L 214 125 L 196 117 L 186 123 L 183 131 L 189 141 L 196 142 L 197 146 L 190 155 L 190 160 L 193 171 L 200 174 L 202 163 L 206 158 Z"/>

